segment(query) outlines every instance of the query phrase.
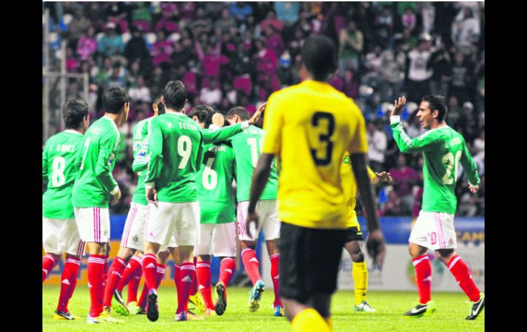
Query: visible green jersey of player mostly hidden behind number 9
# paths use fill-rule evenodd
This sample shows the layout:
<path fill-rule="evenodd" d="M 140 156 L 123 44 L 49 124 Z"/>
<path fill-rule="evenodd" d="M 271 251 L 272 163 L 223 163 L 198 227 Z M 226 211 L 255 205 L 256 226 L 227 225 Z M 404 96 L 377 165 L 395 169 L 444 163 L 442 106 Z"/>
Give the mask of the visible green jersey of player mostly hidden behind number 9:
<path fill-rule="evenodd" d="M 133 193 L 132 202 L 140 205 L 148 205 L 146 201 L 146 192 L 144 190 L 144 178 L 146 177 L 146 166 L 148 164 L 148 133 L 149 124 L 153 118 L 145 118 L 133 127 L 133 164 L 132 170 L 138 173 L 138 186 Z"/>

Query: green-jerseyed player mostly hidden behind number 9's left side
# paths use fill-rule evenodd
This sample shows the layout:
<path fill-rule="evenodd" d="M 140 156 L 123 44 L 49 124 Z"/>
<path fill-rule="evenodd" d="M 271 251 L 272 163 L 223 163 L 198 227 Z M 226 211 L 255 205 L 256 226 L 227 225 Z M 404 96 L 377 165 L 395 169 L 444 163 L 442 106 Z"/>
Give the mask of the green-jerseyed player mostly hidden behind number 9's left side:
<path fill-rule="evenodd" d="M 120 248 L 117 257 L 114 259 L 106 281 L 103 305 L 110 307 L 112 305 L 112 297 L 115 298 L 114 309 L 119 314 L 127 316 L 128 314 L 138 314 L 146 305 L 146 288 L 143 289 L 138 305 L 137 290 L 139 281 L 142 275 L 142 251 L 144 246 L 144 222 L 146 219 L 146 212 L 148 210 L 148 202 L 146 201 L 144 190 L 144 178 L 146 177 L 146 164 L 148 159 L 148 127 L 150 121 L 159 114 L 164 114 L 164 107 L 161 103 L 162 92 L 155 94 L 152 107 L 154 115 L 151 118 L 141 120 L 133 127 L 133 164 L 132 169 L 138 173 L 138 185 L 136 192 L 133 193 L 130 210 L 128 212 L 125 227 L 123 229 L 123 236 L 120 243 Z M 133 256 L 135 253 L 138 255 Z M 168 253 L 161 252 L 163 258 L 168 257 Z M 133 257 L 132 257 L 133 256 Z M 129 267 L 128 267 L 129 266 Z M 159 264 L 157 267 L 158 284 L 164 277 L 165 266 Z M 122 277 L 122 278 L 121 278 Z M 123 281 L 123 283 L 121 283 Z M 127 303 L 123 301 L 121 290 L 132 282 L 128 288 Z"/>

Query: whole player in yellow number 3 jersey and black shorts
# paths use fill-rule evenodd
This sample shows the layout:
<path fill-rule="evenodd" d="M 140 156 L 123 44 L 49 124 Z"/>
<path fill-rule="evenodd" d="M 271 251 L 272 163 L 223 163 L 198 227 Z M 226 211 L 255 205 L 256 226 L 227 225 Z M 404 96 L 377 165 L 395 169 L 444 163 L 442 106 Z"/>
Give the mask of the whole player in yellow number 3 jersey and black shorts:
<path fill-rule="evenodd" d="M 307 38 L 302 51 L 303 82 L 274 92 L 266 107 L 266 137 L 253 173 L 246 229 L 258 222 L 256 203 L 272 161 L 279 157 L 280 296 L 294 331 L 332 331 L 331 295 L 345 230 L 347 199 L 340 172 L 350 153 L 368 220 L 368 253 L 382 264 L 384 238 L 366 171 L 365 122 L 361 110 L 326 83 L 337 68 L 335 43 Z"/>

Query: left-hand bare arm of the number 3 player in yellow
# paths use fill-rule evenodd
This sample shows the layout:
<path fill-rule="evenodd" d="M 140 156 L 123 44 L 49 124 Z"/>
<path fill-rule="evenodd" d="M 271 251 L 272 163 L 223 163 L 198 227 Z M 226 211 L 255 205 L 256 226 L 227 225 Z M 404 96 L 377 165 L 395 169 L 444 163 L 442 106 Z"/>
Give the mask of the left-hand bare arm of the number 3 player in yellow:
<path fill-rule="evenodd" d="M 269 178 L 269 173 L 271 170 L 272 160 L 274 155 L 270 153 L 262 153 L 260 159 L 258 159 L 258 164 L 253 172 L 253 180 L 250 183 L 250 199 L 248 207 L 247 220 L 245 222 L 245 228 L 249 236 L 253 236 L 250 233 L 250 223 L 255 222 L 255 226 L 258 225 L 259 216 L 255 212 L 256 203 L 261 196 L 261 193 L 264 192 L 266 188 L 267 179 Z"/>

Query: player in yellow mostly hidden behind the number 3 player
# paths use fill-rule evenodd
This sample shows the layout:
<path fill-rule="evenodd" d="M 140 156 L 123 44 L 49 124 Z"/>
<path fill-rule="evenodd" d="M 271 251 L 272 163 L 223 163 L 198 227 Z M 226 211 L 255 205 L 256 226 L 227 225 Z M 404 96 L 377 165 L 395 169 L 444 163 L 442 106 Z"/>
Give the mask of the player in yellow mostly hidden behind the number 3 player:
<path fill-rule="evenodd" d="M 341 176 L 343 183 L 346 181 L 352 181 L 353 186 L 344 186 L 344 192 L 348 197 L 348 229 L 346 229 L 346 244 L 344 248 L 350 254 L 352 260 L 352 277 L 353 283 L 355 284 L 355 311 L 376 311 L 373 309 L 368 302 L 366 302 L 366 292 L 368 290 L 368 268 L 366 267 L 366 261 L 364 254 L 361 250 L 361 244 L 363 241 L 363 235 L 361 231 L 361 225 L 357 219 L 357 212 L 355 212 L 355 204 L 357 203 L 357 186 L 355 185 L 355 177 L 351 170 L 350 156 L 346 153 L 342 164 Z M 390 181 L 391 175 L 387 172 L 374 173 L 373 170 L 368 167 L 368 177 L 372 181 L 372 186 L 377 186 L 382 181 Z"/>

